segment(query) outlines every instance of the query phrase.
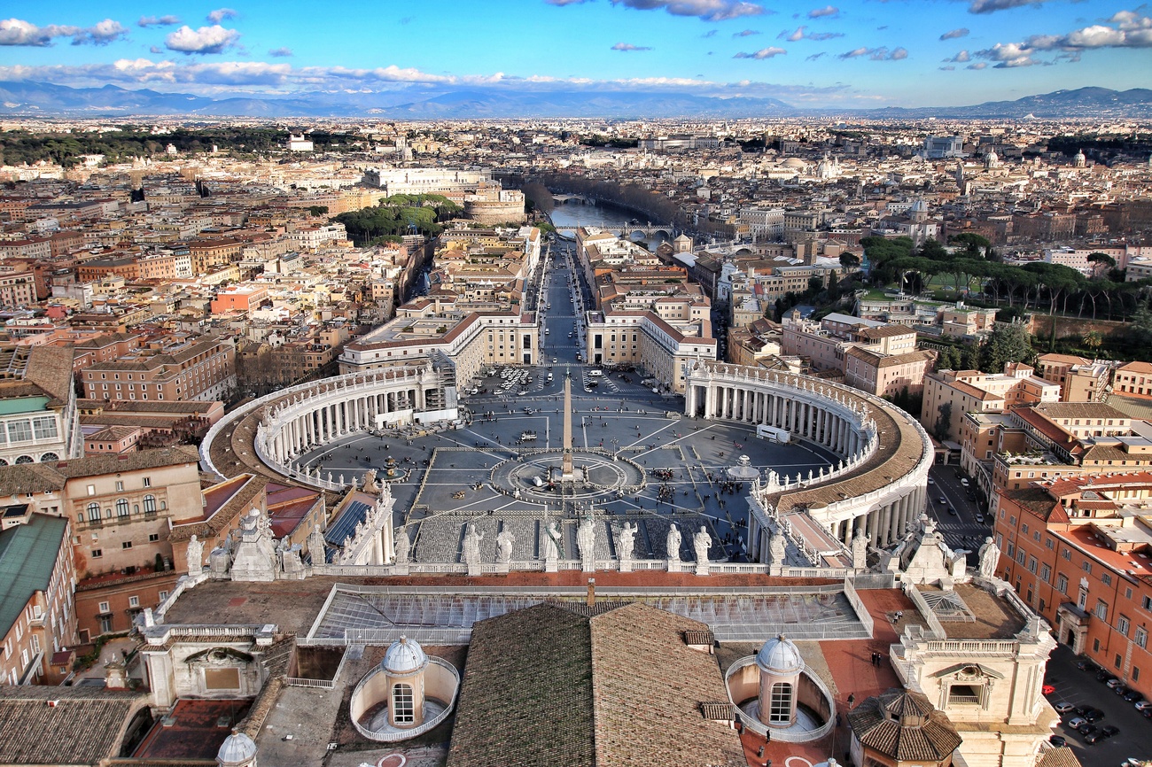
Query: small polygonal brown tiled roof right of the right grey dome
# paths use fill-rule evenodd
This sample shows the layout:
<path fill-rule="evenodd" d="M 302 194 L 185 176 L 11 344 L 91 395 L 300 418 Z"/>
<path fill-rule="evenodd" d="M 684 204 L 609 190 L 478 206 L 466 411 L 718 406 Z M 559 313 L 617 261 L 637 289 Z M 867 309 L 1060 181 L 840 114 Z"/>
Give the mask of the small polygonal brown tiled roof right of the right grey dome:
<path fill-rule="evenodd" d="M 961 743 L 948 717 L 910 690 L 888 690 L 848 712 L 859 742 L 896 761 L 943 761 Z"/>

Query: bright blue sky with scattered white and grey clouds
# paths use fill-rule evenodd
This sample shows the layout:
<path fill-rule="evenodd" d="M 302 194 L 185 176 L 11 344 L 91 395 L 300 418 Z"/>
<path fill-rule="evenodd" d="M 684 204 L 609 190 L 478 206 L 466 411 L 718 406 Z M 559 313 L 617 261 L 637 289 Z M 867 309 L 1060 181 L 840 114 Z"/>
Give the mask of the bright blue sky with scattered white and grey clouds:
<path fill-rule="evenodd" d="M 1152 6 L 1106 0 L 56 0 L 0 16 L 0 81 L 223 97 L 682 92 L 960 106 L 1152 86 Z M 391 98 L 391 96 L 389 96 Z"/>

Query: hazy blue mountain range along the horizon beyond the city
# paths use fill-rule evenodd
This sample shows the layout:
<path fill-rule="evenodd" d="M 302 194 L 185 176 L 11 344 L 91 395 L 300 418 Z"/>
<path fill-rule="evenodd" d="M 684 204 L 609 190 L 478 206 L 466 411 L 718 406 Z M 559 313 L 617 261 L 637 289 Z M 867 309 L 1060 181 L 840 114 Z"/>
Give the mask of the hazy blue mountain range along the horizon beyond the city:
<path fill-rule="evenodd" d="M 0 114 L 40 116 L 189 115 L 204 117 L 380 117 L 389 120 L 477 120 L 515 117 L 799 117 L 857 119 L 1150 117 L 1152 90 L 1081 88 L 975 106 L 805 109 L 776 99 L 719 98 L 652 92 L 450 91 L 412 100 L 410 93 L 313 92 L 294 97 L 207 98 L 152 90 L 68 88 L 50 83 L 0 82 Z"/>

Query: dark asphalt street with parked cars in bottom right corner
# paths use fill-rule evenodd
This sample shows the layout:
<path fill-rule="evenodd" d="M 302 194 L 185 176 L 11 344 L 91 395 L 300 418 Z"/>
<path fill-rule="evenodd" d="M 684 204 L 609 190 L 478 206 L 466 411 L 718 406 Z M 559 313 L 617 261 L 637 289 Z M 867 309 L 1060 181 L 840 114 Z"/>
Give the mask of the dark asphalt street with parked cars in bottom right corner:
<path fill-rule="evenodd" d="M 1053 685 L 1056 691 L 1048 696 L 1048 701 L 1055 706 L 1061 701 L 1074 706 L 1092 706 L 1104 712 L 1104 719 L 1096 723 L 1113 724 L 1120 728 L 1120 734 L 1106 738 L 1096 745 L 1084 743 L 1079 734 L 1068 728 L 1068 720 L 1075 716 L 1061 716 L 1060 735 L 1068 738 L 1073 752 L 1081 764 L 1119 765 L 1130 757 L 1152 757 L 1152 720 L 1145 719 L 1134 704 L 1128 703 L 1112 691 L 1104 682 L 1097 682 L 1096 674 L 1076 668 L 1076 655 L 1066 645 L 1058 646 L 1048 658 L 1045 671 L 1045 684 Z"/>

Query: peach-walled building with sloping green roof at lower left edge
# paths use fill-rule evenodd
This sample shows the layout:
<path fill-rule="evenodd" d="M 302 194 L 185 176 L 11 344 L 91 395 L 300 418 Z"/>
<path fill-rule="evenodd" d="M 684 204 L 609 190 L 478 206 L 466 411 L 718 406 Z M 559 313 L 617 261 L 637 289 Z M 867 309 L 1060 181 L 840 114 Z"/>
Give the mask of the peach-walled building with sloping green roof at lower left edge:
<path fill-rule="evenodd" d="M 59 684 L 52 654 L 77 643 L 67 517 L 31 512 L 0 531 L 0 682 Z"/>

